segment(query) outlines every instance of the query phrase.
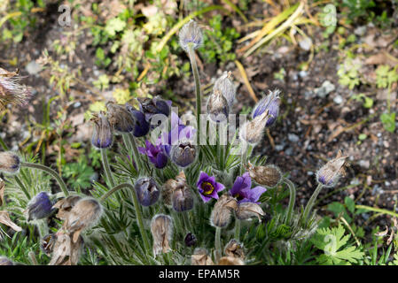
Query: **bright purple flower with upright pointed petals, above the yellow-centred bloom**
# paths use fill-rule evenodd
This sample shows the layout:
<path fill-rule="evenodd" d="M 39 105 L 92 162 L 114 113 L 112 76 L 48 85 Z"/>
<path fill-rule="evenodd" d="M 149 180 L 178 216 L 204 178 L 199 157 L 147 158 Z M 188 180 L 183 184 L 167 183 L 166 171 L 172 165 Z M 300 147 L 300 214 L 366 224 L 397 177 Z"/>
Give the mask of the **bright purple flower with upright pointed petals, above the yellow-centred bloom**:
<path fill-rule="evenodd" d="M 172 145 L 179 144 L 180 141 L 194 141 L 196 129 L 193 126 L 183 125 L 176 112 L 171 112 L 171 130 L 161 134 L 159 143 L 162 149 L 170 156 Z"/>

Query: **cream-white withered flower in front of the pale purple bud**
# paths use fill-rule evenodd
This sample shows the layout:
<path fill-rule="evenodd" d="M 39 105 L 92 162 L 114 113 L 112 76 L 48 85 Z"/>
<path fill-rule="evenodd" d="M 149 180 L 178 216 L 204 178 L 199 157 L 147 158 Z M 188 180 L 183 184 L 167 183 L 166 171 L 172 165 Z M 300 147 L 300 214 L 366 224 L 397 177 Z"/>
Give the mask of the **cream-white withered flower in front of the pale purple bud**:
<path fill-rule="evenodd" d="M 239 131 L 239 137 L 242 141 L 251 145 L 261 142 L 265 126 L 269 120 L 269 112 L 264 111 L 261 115 L 255 117 L 251 121 L 247 121 Z"/>

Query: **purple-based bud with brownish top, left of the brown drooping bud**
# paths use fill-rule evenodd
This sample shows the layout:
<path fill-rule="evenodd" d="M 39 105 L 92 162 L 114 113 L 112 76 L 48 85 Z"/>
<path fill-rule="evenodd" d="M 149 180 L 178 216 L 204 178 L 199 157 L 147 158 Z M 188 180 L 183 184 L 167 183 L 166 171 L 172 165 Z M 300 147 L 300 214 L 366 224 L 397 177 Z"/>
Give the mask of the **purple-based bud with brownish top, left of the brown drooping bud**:
<path fill-rule="evenodd" d="M 99 115 L 93 115 L 90 119 L 94 123 L 94 132 L 92 134 L 91 143 L 97 149 L 107 149 L 112 146 L 113 133 L 112 126 L 108 119 L 105 117 L 104 112 L 100 112 Z"/>

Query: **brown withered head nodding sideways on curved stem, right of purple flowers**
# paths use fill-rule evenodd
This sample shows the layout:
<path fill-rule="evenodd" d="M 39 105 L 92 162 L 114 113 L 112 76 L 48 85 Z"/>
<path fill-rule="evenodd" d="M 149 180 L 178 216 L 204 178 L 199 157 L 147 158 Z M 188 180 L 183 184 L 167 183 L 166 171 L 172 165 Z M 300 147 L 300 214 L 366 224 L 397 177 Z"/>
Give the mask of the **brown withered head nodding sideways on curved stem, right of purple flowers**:
<path fill-rule="evenodd" d="M 250 162 L 246 166 L 251 178 L 257 183 L 266 187 L 276 187 L 282 180 L 282 173 L 275 165 L 254 166 Z"/>

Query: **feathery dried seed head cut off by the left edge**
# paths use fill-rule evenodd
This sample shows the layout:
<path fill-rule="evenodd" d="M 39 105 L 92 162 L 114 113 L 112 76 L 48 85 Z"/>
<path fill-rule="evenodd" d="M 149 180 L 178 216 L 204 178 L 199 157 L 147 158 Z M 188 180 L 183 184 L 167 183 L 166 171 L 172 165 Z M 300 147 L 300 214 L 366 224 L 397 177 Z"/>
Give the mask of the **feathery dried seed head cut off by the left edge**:
<path fill-rule="evenodd" d="M 8 72 L 0 68 L 0 111 L 3 111 L 8 103 L 25 106 L 32 96 L 32 89 L 20 84 L 18 70 Z"/>

